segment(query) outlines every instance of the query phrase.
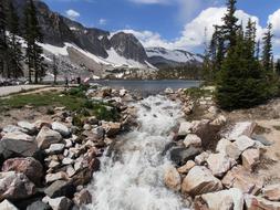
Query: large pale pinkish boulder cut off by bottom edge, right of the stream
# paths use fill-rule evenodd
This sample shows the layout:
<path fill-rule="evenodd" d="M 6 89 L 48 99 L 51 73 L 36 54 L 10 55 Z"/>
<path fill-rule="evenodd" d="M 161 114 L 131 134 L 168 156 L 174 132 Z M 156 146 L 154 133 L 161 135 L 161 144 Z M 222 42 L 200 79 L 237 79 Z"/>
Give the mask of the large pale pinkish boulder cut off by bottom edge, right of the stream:
<path fill-rule="evenodd" d="M 204 210 L 242 210 L 243 195 L 237 188 L 210 192 L 196 197 L 194 206 Z"/>

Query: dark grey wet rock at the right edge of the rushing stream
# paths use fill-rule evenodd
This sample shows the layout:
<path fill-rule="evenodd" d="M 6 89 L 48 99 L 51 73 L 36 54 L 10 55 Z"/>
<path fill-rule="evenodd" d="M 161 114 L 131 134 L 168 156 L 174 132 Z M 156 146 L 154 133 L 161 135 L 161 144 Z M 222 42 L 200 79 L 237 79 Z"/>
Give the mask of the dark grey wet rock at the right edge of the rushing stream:
<path fill-rule="evenodd" d="M 201 148 L 196 147 L 175 147 L 170 149 L 170 159 L 178 166 L 184 165 L 188 160 L 195 159 L 197 155 L 203 151 Z"/>

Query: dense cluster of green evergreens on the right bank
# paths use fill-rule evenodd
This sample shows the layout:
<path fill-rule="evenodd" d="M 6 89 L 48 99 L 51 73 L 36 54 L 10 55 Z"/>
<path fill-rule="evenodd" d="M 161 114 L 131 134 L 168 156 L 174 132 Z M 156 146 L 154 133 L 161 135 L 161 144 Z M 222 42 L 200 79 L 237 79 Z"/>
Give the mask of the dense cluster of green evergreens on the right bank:
<path fill-rule="evenodd" d="M 256 22 L 249 19 L 246 27 L 239 24 L 236 3 L 228 0 L 224 23 L 215 25 L 204 61 L 204 77 L 216 84 L 217 103 L 225 109 L 252 107 L 276 96 L 279 90 L 280 61 L 274 66 L 272 25 L 268 24 L 260 50 Z"/>

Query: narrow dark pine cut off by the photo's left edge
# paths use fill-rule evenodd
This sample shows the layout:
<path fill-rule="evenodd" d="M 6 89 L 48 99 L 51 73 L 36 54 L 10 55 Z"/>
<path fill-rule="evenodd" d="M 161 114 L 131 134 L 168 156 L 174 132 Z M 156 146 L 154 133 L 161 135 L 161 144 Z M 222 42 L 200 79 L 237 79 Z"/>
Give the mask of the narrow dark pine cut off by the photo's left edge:
<path fill-rule="evenodd" d="M 0 1 L 0 75 L 9 76 L 8 70 L 8 44 L 7 44 L 7 21 L 6 21 L 6 1 Z"/>

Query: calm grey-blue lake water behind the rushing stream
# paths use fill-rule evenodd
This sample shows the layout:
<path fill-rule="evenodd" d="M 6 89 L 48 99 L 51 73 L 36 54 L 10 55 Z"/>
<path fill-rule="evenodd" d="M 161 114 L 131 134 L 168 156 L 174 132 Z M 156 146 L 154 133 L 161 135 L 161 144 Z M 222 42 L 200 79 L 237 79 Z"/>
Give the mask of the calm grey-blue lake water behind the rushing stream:
<path fill-rule="evenodd" d="M 110 81 L 94 81 L 103 86 L 111 86 L 112 88 L 125 88 L 131 92 L 137 92 L 144 96 L 155 95 L 164 92 L 167 87 L 172 90 L 197 87 L 200 81 L 183 81 L 183 80 L 165 80 L 165 81 L 125 81 L 125 80 L 110 80 Z"/>

